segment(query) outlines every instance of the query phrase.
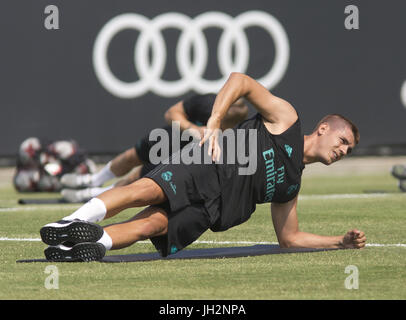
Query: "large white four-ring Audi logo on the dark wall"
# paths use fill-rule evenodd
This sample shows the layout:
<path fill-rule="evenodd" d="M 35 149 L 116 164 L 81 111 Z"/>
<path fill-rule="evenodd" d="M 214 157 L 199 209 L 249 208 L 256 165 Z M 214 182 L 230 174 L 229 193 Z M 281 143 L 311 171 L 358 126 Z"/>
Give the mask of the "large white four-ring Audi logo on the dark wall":
<path fill-rule="evenodd" d="M 205 12 L 195 18 L 181 13 L 164 13 L 150 20 L 140 14 L 119 15 L 104 25 L 97 35 L 93 48 L 94 69 L 100 83 L 113 95 L 120 98 L 135 98 L 148 91 L 164 97 L 175 97 L 189 90 L 197 93 L 217 92 L 231 72 L 245 73 L 249 63 L 249 43 L 245 33 L 247 27 L 261 27 L 273 39 L 275 57 L 267 73 L 257 79 L 268 89 L 283 77 L 289 61 L 289 41 L 285 30 L 277 19 L 262 11 L 248 11 L 232 18 L 222 12 Z M 223 30 L 218 43 L 217 60 L 222 78 L 207 80 L 203 74 L 208 62 L 208 44 L 203 30 L 209 27 Z M 176 64 L 180 74 L 178 80 L 163 80 L 166 64 L 165 40 L 162 30 L 175 28 L 181 31 L 176 45 Z M 140 32 L 135 44 L 134 62 L 139 79 L 124 82 L 117 79 L 109 68 L 107 50 L 112 38 L 120 31 L 135 29 Z M 235 57 L 232 59 L 234 46 Z M 190 52 L 194 50 L 192 61 Z M 152 59 L 149 50 L 152 52 Z M 150 61 L 151 60 L 151 61 Z"/>

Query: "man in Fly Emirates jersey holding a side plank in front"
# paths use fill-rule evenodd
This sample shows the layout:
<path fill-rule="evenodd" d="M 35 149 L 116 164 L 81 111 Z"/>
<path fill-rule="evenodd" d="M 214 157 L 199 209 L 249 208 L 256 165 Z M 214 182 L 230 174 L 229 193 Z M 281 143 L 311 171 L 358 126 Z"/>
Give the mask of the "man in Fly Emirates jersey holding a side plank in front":
<path fill-rule="evenodd" d="M 217 162 L 221 152 L 229 156 L 226 148 L 219 147 L 221 120 L 240 97 L 258 111 L 233 129 L 243 129 L 245 150 L 253 145 L 251 130 L 256 132 L 256 171 L 252 174 L 241 174 L 238 162 Z M 42 241 L 49 245 L 45 256 L 54 261 L 100 260 L 106 250 L 145 239 L 167 256 L 208 229 L 224 231 L 247 221 L 256 204 L 265 202 L 271 203 L 281 247 L 363 248 L 362 231 L 353 229 L 340 236 L 303 232 L 296 212 L 305 165 L 336 162 L 358 141 L 355 125 L 340 115 L 324 117 L 310 135 L 303 136 L 292 105 L 247 75 L 232 73 L 216 97 L 203 139 L 192 148 L 198 152 L 207 147 L 210 164 L 162 164 L 130 185 L 93 198 L 70 216 L 41 228 Z M 95 223 L 127 208 L 144 206 L 128 221 L 104 228 Z"/>

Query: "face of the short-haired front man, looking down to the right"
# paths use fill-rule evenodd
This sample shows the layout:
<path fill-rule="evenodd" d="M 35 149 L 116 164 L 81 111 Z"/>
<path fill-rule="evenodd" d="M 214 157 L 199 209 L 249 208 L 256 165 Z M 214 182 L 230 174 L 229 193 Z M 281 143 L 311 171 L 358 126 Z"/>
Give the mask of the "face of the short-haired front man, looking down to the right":
<path fill-rule="evenodd" d="M 351 153 L 355 147 L 354 135 L 350 126 L 338 123 L 323 123 L 318 129 L 320 162 L 330 165 Z"/>

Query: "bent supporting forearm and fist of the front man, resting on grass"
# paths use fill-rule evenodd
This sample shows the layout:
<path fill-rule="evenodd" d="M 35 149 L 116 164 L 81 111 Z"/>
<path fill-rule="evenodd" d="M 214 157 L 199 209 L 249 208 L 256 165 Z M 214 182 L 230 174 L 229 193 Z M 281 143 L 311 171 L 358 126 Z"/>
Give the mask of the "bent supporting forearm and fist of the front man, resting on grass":
<path fill-rule="evenodd" d="M 287 203 L 272 203 L 272 221 L 278 242 L 282 248 L 336 248 L 361 249 L 365 247 L 364 232 L 357 229 L 343 236 L 321 236 L 299 230 L 297 219 L 297 200 Z"/>

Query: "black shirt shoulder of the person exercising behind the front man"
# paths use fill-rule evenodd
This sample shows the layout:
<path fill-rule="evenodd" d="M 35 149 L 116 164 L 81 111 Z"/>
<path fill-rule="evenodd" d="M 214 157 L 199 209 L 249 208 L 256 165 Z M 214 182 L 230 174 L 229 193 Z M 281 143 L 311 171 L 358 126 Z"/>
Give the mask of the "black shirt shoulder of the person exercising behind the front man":
<path fill-rule="evenodd" d="M 211 116 L 215 94 L 194 95 L 183 101 L 183 108 L 188 120 L 197 126 L 205 126 Z"/>

